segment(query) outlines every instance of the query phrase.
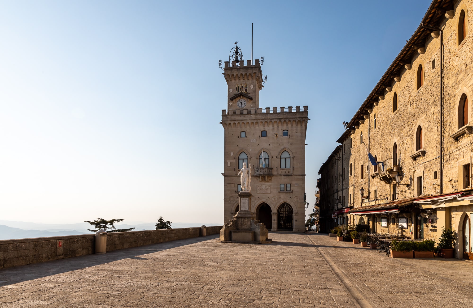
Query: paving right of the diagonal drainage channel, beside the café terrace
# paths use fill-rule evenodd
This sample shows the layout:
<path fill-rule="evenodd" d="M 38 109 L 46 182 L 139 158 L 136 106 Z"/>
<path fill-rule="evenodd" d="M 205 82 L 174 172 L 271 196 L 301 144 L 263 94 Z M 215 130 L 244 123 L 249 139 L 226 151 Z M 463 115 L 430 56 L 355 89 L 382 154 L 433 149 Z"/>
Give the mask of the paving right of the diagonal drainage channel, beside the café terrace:
<path fill-rule="evenodd" d="M 317 249 L 348 276 L 373 307 L 472 307 L 473 262 L 393 259 L 375 249 L 310 234 Z"/>

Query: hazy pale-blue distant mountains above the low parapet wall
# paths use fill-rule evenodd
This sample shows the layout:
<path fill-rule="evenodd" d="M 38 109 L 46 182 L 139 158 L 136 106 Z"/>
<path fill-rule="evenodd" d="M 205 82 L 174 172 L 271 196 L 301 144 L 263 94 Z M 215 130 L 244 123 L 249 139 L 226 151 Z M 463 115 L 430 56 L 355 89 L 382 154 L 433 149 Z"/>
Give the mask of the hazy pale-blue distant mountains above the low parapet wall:
<path fill-rule="evenodd" d="M 217 226 L 220 223 L 201 223 L 201 222 L 173 222 L 173 228 L 190 228 L 206 226 Z M 0 220 L 0 240 L 29 239 L 49 236 L 66 236 L 78 234 L 90 234 L 87 231 L 91 226 L 87 222 L 68 223 L 68 224 L 49 224 L 35 222 L 13 222 Z M 117 224 L 117 229 L 128 229 L 135 227 L 138 230 L 154 230 L 155 223 L 137 223 L 137 224 Z"/>

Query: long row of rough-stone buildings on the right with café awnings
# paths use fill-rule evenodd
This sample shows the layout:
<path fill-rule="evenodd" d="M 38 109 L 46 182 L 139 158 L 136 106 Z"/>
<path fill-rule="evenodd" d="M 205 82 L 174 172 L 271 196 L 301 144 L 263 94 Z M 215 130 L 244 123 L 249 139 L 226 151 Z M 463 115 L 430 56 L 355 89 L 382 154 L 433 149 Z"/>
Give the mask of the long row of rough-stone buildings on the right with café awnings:
<path fill-rule="evenodd" d="M 473 258 L 470 26 L 472 1 L 432 1 L 319 171 L 324 231 L 361 223 L 438 240 L 451 227 L 456 256 Z"/>

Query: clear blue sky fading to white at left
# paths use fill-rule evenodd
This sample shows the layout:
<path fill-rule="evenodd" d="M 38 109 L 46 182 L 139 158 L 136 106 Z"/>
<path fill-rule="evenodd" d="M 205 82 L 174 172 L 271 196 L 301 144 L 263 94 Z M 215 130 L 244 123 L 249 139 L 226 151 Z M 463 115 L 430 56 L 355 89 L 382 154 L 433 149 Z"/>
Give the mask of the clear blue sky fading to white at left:
<path fill-rule="evenodd" d="M 222 222 L 235 41 L 309 106 L 306 192 L 429 0 L 1 1 L 1 219 Z"/>

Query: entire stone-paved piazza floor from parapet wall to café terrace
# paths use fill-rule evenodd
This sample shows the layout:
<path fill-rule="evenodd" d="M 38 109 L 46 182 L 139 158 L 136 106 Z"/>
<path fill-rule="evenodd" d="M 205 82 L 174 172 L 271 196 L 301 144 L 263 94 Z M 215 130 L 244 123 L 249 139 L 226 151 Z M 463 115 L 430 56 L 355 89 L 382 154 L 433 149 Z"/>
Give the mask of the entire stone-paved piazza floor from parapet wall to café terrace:
<path fill-rule="evenodd" d="M 217 235 L 0 270 L 0 307 L 472 307 L 473 262 L 392 259 L 316 233 Z"/>

